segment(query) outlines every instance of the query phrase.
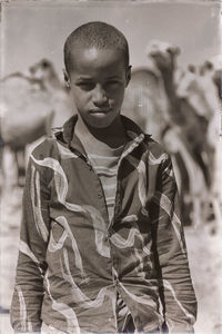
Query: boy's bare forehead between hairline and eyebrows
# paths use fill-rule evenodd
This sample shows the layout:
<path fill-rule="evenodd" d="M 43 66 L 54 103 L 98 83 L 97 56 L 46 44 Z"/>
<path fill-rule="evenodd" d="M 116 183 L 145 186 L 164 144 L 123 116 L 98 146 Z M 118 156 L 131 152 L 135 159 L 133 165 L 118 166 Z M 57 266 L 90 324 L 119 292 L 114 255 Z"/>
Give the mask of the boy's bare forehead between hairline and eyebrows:
<path fill-rule="evenodd" d="M 70 52 L 72 72 L 120 72 L 124 71 L 124 56 L 121 50 L 78 48 Z"/>

